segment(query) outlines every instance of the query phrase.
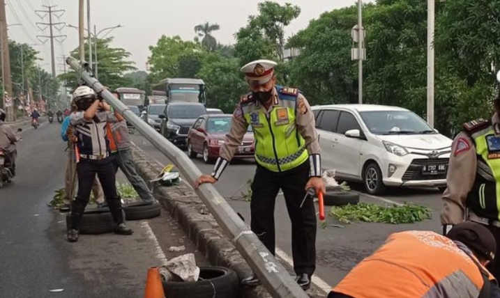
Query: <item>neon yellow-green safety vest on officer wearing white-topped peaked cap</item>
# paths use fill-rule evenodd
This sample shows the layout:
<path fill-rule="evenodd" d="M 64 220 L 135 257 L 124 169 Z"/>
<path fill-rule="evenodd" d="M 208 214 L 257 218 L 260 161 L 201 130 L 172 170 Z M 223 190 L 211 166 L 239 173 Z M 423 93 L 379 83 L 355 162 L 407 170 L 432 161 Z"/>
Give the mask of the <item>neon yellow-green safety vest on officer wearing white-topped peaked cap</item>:
<path fill-rule="evenodd" d="M 279 90 L 280 86 L 276 88 Z M 270 113 L 265 113 L 257 102 L 242 105 L 243 116 L 255 135 L 255 160 L 270 171 L 290 170 L 309 157 L 295 125 L 296 99 L 278 93 Z"/>

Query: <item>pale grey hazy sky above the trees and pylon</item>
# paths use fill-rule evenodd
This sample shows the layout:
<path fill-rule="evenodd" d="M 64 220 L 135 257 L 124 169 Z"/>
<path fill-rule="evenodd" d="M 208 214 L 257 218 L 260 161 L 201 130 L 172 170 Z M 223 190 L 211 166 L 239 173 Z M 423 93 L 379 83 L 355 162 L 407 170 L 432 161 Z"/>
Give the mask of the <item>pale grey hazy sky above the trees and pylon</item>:
<path fill-rule="evenodd" d="M 48 22 L 46 13 L 34 10 L 47 10 L 43 6 L 55 6 L 53 10 L 64 10 L 55 13 L 52 22 L 78 25 L 78 0 L 5 0 L 9 38 L 16 42 L 25 42 L 37 49 L 40 54 L 40 66 L 50 72 L 50 41 L 37 36 L 49 36 L 49 29 L 36 22 Z M 194 27 L 209 22 L 220 25 L 220 30 L 213 36 L 222 44 L 234 44 L 234 33 L 247 24 L 248 16 L 257 14 L 257 3 L 262 0 L 89 0 L 91 1 L 91 28 L 96 26 L 99 32 L 112 26 L 121 25 L 112 31 L 103 31 L 98 38 L 112 36 L 112 47 L 122 47 L 131 53 L 130 60 L 135 62 L 139 70 L 146 70 L 146 61 L 150 54 L 149 46 L 156 45 L 162 36 L 179 35 L 183 40 L 195 37 Z M 301 8 L 301 15 L 285 29 L 285 35 L 305 29 L 311 19 L 317 19 L 321 13 L 351 6 L 356 0 L 274 0 L 284 4 L 291 3 Z M 367 0 L 365 0 L 367 1 Z M 62 15 L 61 15 L 62 14 Z M 44 18 L 40 18 L 44 17 Z M 22 24 L 22 26 L 17 25 Z M 77 29 L 58 26 L 54 35 L 66 35 L 63 42 L 54 42 L 56 56 L 56 72 L 63 72 L 62 56 L 78 45 Z M 86 0 L 85 0 L 85 28 Z M 62 38 L 61 38 L 62 40 Z M 86 53 L 88 54 L 88 53 Z"/>

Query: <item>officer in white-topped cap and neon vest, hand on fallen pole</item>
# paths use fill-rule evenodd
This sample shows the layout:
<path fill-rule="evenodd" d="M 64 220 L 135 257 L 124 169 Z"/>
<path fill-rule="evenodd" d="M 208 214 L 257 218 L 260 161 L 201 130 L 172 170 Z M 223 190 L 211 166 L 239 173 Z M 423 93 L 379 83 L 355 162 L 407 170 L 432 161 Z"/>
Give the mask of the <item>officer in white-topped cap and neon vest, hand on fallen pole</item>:
<path fill-rule="evenodd" d="M 301 203 L 306 189 L 325 191 L 321 180 L 321 156 L 315 117 L 305 97 L 295 88 L 276 85 L 274 68 L 268 60 L 252 61 L 241 68 L 250 91 L 241 97 L 233 114 L 231 129 L 220 148 L 211 175 L 201 175 L 195 187 L 215 183 L 231 161 L 248 125 L 255 134 L 257 170 L 250 203 L 252 231 L 271 253 L 275 253 L 275 198 L 282 189 L 291 219 L 291 246 L 296 281 L 310 288 L 316 266 L 316 212 L 312 198 Z M 243 280 L 258 285 L 250 276 Z"/>

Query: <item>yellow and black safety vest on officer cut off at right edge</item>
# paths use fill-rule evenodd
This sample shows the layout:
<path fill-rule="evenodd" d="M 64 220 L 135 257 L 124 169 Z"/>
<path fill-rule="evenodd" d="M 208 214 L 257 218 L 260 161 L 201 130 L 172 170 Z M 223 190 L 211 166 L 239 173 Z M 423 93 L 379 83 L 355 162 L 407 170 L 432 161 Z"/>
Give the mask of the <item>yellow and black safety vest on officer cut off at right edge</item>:
<path fill-rule="evenodd" d="M 472 135 L 478 156 L 476 180 L 467 194 L 467 207 L 479 217 L 500 220 L 500 152 L 490 152 L 488 139 L 495 138 L 491 127 Z M 490 140 L 492 141 L 492 140 Z M 495 140 L 496 141 L 496 140 Z"/>

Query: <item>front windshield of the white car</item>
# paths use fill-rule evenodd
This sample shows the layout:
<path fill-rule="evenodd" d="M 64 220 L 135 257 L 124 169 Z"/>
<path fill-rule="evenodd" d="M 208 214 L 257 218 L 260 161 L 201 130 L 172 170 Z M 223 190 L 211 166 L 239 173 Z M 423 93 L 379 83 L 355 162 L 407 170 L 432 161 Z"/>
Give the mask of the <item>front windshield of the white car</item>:
<path fill-rule="evenodd" d="M 436 134 L 411 111 L 365 111 L 359 114 L 372 134 Z"/>

